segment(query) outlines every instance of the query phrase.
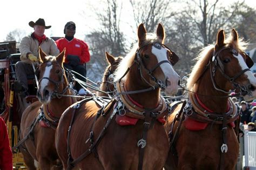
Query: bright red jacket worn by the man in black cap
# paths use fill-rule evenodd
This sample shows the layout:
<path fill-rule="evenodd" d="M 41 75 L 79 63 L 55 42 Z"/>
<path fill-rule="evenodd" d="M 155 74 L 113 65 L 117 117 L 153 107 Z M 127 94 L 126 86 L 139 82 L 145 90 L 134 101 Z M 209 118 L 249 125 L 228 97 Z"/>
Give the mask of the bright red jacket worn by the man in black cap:
<path fill-rule="evenodd" d="M 57 47 L 60 52 L 66 48 L 64 63 L 68 63 L 66 59 L 67 55 L 76 55 L 80 58 L 80 64 L 84 64 L 90 61 L 89 47 L 80 39 L 73 38 L 70 42 L 66 38 L 60 38 L 56 41 Z"/>

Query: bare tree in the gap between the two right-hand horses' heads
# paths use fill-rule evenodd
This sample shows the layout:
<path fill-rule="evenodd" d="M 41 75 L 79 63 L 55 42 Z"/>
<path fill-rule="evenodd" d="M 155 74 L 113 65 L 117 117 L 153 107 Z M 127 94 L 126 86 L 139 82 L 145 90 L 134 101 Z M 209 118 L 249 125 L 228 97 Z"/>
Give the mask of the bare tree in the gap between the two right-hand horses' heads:
<path fill-rule="evenodd" d="M 183 4 L 183 10 L 177 13 L 172 23 L 166 25 L 166 44 L 170 44 L 180 57 L 177 72 L 180 76 L 190 73 L 199 50 L 208 44 L 215 43 L 217 32 L 233 28 L 233 18 L 240 18 L 238 11 L 242 10 L 244 2 L 223 4 L 219 0 L 193 0 Z"/>

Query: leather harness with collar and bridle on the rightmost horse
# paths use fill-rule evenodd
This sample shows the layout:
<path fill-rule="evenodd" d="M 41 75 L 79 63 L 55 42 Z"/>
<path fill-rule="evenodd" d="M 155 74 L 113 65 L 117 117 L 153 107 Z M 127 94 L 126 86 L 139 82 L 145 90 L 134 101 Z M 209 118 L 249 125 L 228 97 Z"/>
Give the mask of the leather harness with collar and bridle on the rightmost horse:
<path fill-rule="evenodd" d="M 224 92 L 228 94 L 227 91 L 220 89 L 217 84 L 215 83 L 214 76 L 215 76 L 215 71 L 219 69 L 221 75 L 223 75 L 228 81 L 232 83 L 235 89 L 240 90 L 240 94 L 250 94 L 250 92 L 247 90 L 246 86 L 242 86 L 238 83 L 235 82 L 235 79 L 240 77 L 243 73 L 246 71 L 250 71 L 250 69 L 244 69 L 233 77 L 227 76 L 224 72 L 224 66 L 222 61 L 219 58 L 219 53 L 223 50 L 230 50 L 233 55 L 238 56 L 238 52 L 230 47 L 223 47 L 219 51 L 213 51 L 213 56 L 212 59 L 209 61 L 207 64 L 206 68 L 210 65 L 210 74 L 211 74 L 211 80 L 212 84 L 214 86 L 214 89 L 217 91 Z M 247 56 L 246 56 L 247 57 Z M 251 60 L 250 57 L 247 57 L 246 59 L 247 66 L 251 67 Z M 213 67 L 212 67 L 213 65 Z M 206 70 L 206 69 L 205 69 Z M 204 71 L 205 72 L 205 71 Z M 197 93 L 189 93 L 187 94 L 187 99 L 183 101 L 183 106 L 181 107 L 179 113 L 176 115 L 176 117 L 173 120 L 173 123 L 171 125 L 171 130 L 169 132 L 169 138 L 170 140 L 170 147 L 171 147 L 171 152 L 173 155 L 176 155 L 174 159 L 176 159 L 176 163 L 178 162 L 178 155 L 176 151 L 176 141 L 178 139 L 178 133 L 182 124 L 182 121 L 184 120 L 185 116 L 190 117 L 191 119 L 203 122 L 203 123 L 210 123 L 210 124 L 219 124 L 222 125 L 221 128 L 221 134 L 222 134 L 222 139 L 223 139 L 223 144 L 220 147 L 220 169 L 224 169 L 224 163 L 225 163 L 225 153 L 227 153 L 227 124 L 232 123 L 233 121 L 239 119 L 241 116 L 241 110 L 239 105 L 235 105 L 232 100 L 228 99 L 228 105 L 230 106 L 229 110 L 224 113 L 214 113 L 210 112 L 206 108 L 204 108 L 201 104 L 199 99 L 197 99 Z M 227 96 L 228 97 L 228 96 Z M 179 121 L 177 129 L 174 132 L 174 125 L 176 124 L 176 121 Z M 235 133 L 238 134 L 238 128 L 239 128 L 239 122 L 237 123 Z"/>

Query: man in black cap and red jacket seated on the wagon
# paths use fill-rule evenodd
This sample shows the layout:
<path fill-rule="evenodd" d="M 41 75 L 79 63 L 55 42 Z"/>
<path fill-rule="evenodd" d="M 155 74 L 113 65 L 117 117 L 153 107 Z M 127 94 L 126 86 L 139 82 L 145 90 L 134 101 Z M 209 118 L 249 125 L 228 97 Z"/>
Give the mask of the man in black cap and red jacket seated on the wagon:
<path fill-rule="evenodd" d="M 66 23 L 64 27 L 65 38 L 58 39 L 56 44 L 59 51 L 66 48 L 64 66 L 86 77 L 85 63 L 90 61 L 89 47 L 83 40 L 75 38 L 75 33 L 76 24 L 72 21 Z M 76 76 L 78 79 L 85 81 L 83 77 Z M 79 83 L 76 84 L 75 89 L 78 91 L 78 94 L 86 93 Z"/>

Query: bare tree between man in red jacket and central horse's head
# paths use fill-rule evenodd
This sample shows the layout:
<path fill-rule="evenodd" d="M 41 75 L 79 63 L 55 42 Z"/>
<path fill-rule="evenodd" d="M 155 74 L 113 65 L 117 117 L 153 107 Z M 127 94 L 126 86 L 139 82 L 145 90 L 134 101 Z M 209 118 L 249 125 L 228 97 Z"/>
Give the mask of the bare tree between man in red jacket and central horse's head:
<path fill-rule="evenodd" d="M 90 44 L 91 62 L 88 63 L 93 79 L 101 79 L 106 67 L 105 52 L 113 56 L 124 56 L 126 42 L 124 33 L 120 30 L 120 13 L 122 3 L 115 0 L 106 0 L 107 8 L 95 9 L 99 28 L 86 35 L 86 41 Z"/>

